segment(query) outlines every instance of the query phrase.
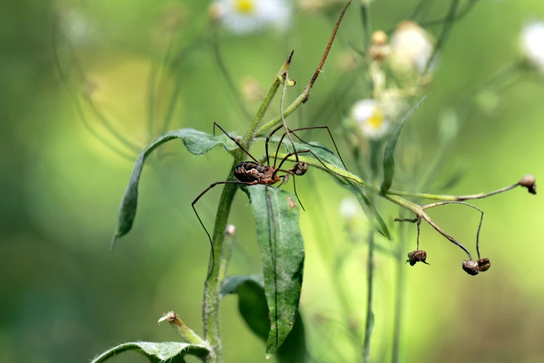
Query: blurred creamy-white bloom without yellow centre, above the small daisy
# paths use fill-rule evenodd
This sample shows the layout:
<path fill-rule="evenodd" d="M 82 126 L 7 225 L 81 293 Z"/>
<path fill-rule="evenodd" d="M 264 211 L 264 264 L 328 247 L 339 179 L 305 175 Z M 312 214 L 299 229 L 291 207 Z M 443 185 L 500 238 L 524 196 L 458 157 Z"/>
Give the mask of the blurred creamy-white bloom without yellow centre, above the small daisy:
<path fill-rule="evenodd" d="M 433 53 L 431 35 L 415 22 L 402 22 L 391 37 L 391 61 L 397 70 L 404 72 L 425 71 Z"/>

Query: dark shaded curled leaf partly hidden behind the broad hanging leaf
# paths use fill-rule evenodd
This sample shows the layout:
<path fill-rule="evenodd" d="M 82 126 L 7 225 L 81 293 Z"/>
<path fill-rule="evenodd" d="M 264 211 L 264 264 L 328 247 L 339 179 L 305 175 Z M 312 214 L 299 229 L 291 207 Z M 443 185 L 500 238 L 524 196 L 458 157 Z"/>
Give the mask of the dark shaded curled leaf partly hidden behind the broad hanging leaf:
<path fill-rule="evenodd" d="M 226 277 L 221 288 L 222 296 L 238 295 L 238 310 L 249 329 L 265 343 L 270 332 L 270 318 L 262 275 L 234 275 Z M 300 314 L 283 344 L 276 352 L 281 363 L 304 363 L 306 361 L 306 337 Z"/>

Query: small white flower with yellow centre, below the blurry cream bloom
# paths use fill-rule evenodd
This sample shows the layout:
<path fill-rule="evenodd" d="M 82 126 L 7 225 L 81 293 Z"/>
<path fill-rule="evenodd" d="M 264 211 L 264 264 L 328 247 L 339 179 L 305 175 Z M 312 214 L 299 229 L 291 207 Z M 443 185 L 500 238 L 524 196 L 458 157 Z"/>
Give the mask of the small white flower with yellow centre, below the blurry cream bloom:
<path fill-rule="evenodd" d="M 352 120 L 367 138 L 377 140 L 389 130 L 390 122 L 375 99 L 361 99 L 352 107 Z"/>

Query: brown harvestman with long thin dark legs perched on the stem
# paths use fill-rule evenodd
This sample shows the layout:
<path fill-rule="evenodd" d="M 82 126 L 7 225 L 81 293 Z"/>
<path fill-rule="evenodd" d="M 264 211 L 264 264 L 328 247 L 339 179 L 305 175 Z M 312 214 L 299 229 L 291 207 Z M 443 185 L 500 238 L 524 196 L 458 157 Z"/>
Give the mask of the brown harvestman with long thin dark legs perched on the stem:
<path fill-rule="evenodd" d="M 315 159 L 317 159 L 322 164 L 322 166 L 324 166 L 324 168 L 327 168 L 327 166 L 320 160 L 320 158 L 317 155 L 315 155 L 314 152 L 311 151 L 311 150 L 301 150 L 301 151 L 295 150 L 294 152 L 290 152 L 290 153 L 286 154 L 286 156 L 284 156 L 283 159 L 281 160 L 281 162 L 279 163 L 279 166 L 276 168 L 277 154 L 279 152 L 279 147 L 281 146 L 281 143 L 283 142 L 283 138 L 286 136 L 286 134 L 288 134 L 288 133 L 292 134 L 297 139 L 299 139 L 302 143 L 304 143 L 306 145 L 311 145 L 311 144 L 306 143 L 306 141 L 302 140 L 301 138 L 299 138 L 299 136 L 294 134 L 293 131 L 300 131 L 300 130 L 306 130 L 306 129 L 327 129 L 327 131 L 329 131 L 329 136 L 331 136 L 331 140 L 332 140 L 332 142 L 334 144 L 336 152 L 338 153 L 338 157 L 340 157 L 340 161 L 342 161 L 342 165 L 347 170 L 347 168 L 345 166 L 345 163 L 342 160 L 342 156 L 340 156 L 340 152 L 338 152 L 338 147 L 336 147 L 336 142 L 334 141 L 334 138 L 333 138 L 333 136 L 331 134 L 331 131 L 329 130 L 329 127 L 327 127 L 327 126 L 313 126 L 313 127 L 301 127 L 299 129 L 288 129 L 288 132 L 283 133 L 283 136 L 281 136 L 281 138 L 279 140 L 277 151 L 276 151 L 276 154 L 274 155 L 274 165 L 273 166 L 270 166 L 270 156 L 268 154 L 268 143 L 270 142 L 270 138 L 272 138 L 272 136 L 279 129 L 281 129 L 283 127 L 283 124 L 279 125 L 276 129 L 274 129 L 266 138 L 266 142 L 265 142 L 266 163 L 267 163 L 266 166 L 259 163 L 257 161 L 257 159 L 255 159 L 252 154 L 249 154 L 249 152 L 247 150 L 245 150 L 245 148 L 242 147 L 242 145 L 240 145 L 240 143 L 238 143 L 238 140 L 236 140 L 236 138 L 233 138 L 232 136 L 230 136 L 220 126 L 220 124 L 217 124 L 217 122 L 213 123 L 214 134 L 215 134 L 215 127 L 216 126 L 219 127 L 221 129 L 221 131 L 223 131 L 223 133 L 226 136 L 228 136 L 231 140 L 233 140 L 233 142 L 236 143 L 236 145 L 238 145 L 238 147 L 240 147 L 240 149 L 243 152 L 245 152 L 245 154 L 247 154 L 247 156 L 249 156 L 251 159 L 253 159 L 253 161 L 242 161 L 241 163 L 239 163 L 234 168 L 234 176 L 236 177 L 236 179 L 238 179 L 238 181 L 234 181 L 234 180 L 233 181 L 215 181 L 215 183 L 208 186 L 208 188 L 206 188 L 202 193 L 200 193 L 198 195 L 198 197 L 196 197 L 195 200 L 193 200 L 193 202 L 191 203 L 192 210 L 195 211 L 195 214 L 197 215 L 197 218 L 198 218 L 198 220 L 200 222 L 200 225 L 202 226 L 202 228 L 204 228 L 204 232 L 206 232 L 206 234 L 208 235 L 208 239 L 210 240 L 210 245 L 211 245 L 211 250 L 212 250 L 212 258 L 214 258 L 213 257 L 214 256 L 214 253 L 213 253 L 213 241 L 212 241 L 211 236 L 210 236 L 210 234 L 208 232 L 208 229 L 206 229 L 206 227 L 204 226 L 204 223 L 202 223 L 202 220 L 200 219 L 200 216 L 197 213 L 197 209 L 195 209 L 195 204 L 211 188 L 213 188 L 214 186 L 216 186 L 218 184 L 242 184 L 242 185 L 248 185 L 248 186 L 256 185 L 256 184 L 264 184 L 265 186 L 269 186 L 269 185 L 271 186 L 273 184 L 279 183 L 279 181 L 281 181 L 281 179 L 283 179 L 283 184 L 284 184 L 289 179 L 289 176 L 293 175 L 293 178 L 292 178 L 293 189 L 295 191 L 295 195 L 297 195 L 297 189 L 295 187 L 295 175 L 296 176 L 304 175 L 304 174 L 306 174 L 306 171 L 308 170 L 308 166 L 306 165 L 306 163 L 298 161 L 298 154 L 305 154 L 305 153 L 312 154 L 313 157 L 315 157 Z M 312 145 L 312 146 L 314 146 L 314 145 Z M 295 165 L 292 166 L 292 168 L 290 168 L 289 170 L 281 169 L 281 166 L 283 165 L 283 163 L 285 161 L 287 161 L 290 158 L 290 156 L 293 156 L 293 155 L 295 157 L 297 157 L 297 162 L 295 163 Z M 327 168 L 327 169 L 330 170 L 329 168 Z M 285 174 L 284 175 L 278 175 L 278 172 L 284 172 Z M 297 195 L 297 199 L 299 199 L 298 195 Z M 300 200 L 299 200 L 299 202 L 300 202 Z M 302 203 L 300 205 L 302 207 Z M 302 209 L 304 209 L 304 207 L 302 207 Z M 213 264 L 214 263 L 215 263 L 215 261 L 213 261 Z"/>

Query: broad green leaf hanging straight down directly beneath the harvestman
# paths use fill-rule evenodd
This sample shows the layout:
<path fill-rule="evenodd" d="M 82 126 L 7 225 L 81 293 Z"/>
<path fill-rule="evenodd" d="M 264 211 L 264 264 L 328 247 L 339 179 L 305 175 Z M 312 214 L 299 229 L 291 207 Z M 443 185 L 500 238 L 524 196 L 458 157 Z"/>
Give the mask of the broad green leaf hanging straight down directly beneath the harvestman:
<path fill-rule="evenodd" d="M 266 356 L 270 357 L 295 323 L 302 287 L 304 243 L 295 196 L 270 186 L 242 187 L 249 195 L 257 227 L 257 243 L 265 278 L 270 316 Z M 293 206 L 293 207 L 292 207 Z"/>

